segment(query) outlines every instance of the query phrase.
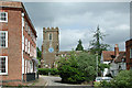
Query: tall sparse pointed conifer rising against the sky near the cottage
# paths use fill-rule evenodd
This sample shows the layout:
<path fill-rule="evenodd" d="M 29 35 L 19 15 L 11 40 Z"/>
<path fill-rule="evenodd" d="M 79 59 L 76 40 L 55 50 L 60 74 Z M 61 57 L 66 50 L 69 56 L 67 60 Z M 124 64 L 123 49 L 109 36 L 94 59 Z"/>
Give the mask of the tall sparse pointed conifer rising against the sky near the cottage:
<path fill-rule="evenodd" d="M 101 43 L 101 41 L 103 41 L 105 36 L 106 36 L 106 34 L 100 32 L 100 29 L 98 25 L 97 31 L 94 34 L 94 40 L 90 41 L 90 52 L 92 54 L 98 53 L 99 55 L 101 55 L 102 51 L 107 51 L 107 48 L 110 47 L 110 45 Z"/>

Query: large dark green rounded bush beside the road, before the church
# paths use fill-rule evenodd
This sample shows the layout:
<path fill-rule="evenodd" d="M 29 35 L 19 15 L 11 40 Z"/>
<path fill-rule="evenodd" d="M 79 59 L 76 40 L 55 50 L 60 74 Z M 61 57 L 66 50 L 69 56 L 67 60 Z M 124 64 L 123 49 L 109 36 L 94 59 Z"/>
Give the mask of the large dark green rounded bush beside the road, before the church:
<path fill-rule="evenodd" d="M 85 80 L 84 73 L 78 69 L 75 52 L 72 52 L 70 56 L 67 56 L 66 58 L 61 57 L 58 73 L 64 82 L 78 84 Z"/>

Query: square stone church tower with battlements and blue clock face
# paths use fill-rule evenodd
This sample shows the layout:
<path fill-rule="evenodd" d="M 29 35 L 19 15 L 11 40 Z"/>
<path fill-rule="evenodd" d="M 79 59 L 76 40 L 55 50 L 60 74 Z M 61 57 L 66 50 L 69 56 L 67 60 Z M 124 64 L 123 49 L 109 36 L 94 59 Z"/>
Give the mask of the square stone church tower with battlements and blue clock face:
<path fill-rule="evenodd" d="M 43 28 L 43 45 L 41 67 L 53 67 L 55 56 L 59 52 L 58 28 Z"/>

